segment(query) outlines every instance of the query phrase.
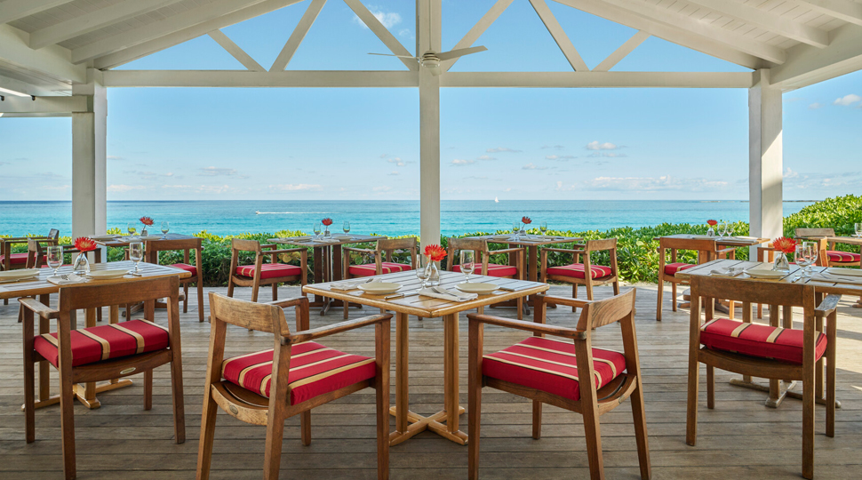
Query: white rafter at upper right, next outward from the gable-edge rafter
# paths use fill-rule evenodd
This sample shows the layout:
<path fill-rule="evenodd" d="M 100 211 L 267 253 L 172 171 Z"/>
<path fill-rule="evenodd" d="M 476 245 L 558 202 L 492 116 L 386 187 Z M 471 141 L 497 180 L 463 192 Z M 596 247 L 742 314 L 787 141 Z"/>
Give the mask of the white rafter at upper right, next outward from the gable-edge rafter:
<path fill-rule="evenodd" d="M 749 25 L 769 30 L 780 36 L 792 38 L 803 44 L 814 45 L 824 48 L 829 44 L 829 34 L 819 28 L 809 27 L 794 20 L 787 20 L 771 14 L 765 10 L 754 8 L 746 4 L 738 4 L 732 0 L 687 0 L 689 4 L 695 4 L 709 9 L 712 12 L 722 13 L 736 20 L 741 20 Z"/>

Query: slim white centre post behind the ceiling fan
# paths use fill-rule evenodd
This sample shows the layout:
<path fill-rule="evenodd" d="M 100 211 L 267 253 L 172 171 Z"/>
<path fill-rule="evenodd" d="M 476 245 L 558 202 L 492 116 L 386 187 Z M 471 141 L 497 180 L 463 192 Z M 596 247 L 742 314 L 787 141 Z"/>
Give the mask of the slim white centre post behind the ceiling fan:
<path fill-rule="evenodd" d="M 431 18 L 429 6 L 434 11 Z M 439 0 L 417 0 L 416 8 L 417 55 L 432 48 L 439 52 Z M 419 67 L 419 221 L 423 249 L 428 244 L 439 244 L 440 77 L 431 75 L 426 67 Z"/>

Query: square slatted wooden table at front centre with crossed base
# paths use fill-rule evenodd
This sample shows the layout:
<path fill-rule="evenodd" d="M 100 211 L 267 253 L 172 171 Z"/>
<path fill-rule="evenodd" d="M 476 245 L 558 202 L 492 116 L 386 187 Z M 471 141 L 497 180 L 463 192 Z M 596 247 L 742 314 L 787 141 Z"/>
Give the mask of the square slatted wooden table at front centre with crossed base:
<path fill-rule="evenodd" d="M 418 294 L 421 283 L 413 271 L 398 272 L 375 276 L 383 282 L 402 284 L 399 292 L 407 296 L 389 299 L 387 295 L 370 295 L 358 288 L 350 291 L 331 290 L 331 283 L 313 284 L 303 287 L 303 292 L 315 293 L 334 299 L 360 303 L 370 307 L 395 311 L 395 407 L 389 412 L 395 415 L 395 431 L 389 436 L 389 444 L 400 444 L 419 432 L 431 430 L 457 444 L 467 444 L 467 434 L 459 430 L 459 415 L 464 408 L 459 405 L 459 365 L 458 365 L 458 316 L 460 312 L 473 308 L 486 307 L 500 301 L 514 300 L 547 291 L 549 285 L 517 280 L 513 278 L 497 278 L 493 276 L 472 275 L 471 283 L 498 284 L 513 288 L 515 292 L 495 291 L 479 295 L 476 300 L 458 302 L 439 300 Z M 451 288 L 464 281 L 464 274 L 455 272 L 440 272 L 440 285 Z M 409 376 L 409 340 L 408 316 L 422 318 L 443 317 L 443 403 L 444 409 L 430 417 L 423 417 L 409 410 L 408 376 Z M 445 423 L 445 425 L 443 424 Z"/>

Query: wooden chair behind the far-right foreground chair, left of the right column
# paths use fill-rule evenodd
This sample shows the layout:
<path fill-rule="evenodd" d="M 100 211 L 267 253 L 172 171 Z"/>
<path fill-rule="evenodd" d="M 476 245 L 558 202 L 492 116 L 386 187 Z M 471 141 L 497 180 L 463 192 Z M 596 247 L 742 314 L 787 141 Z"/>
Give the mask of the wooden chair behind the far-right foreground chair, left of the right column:
<path fill-rule="evenodd" d="M 716 239 L 717 240 L 717 239 Z M 682 270 L 697 267 L 701 263 L 715 260 L 720 257 L 730 259 L 736 258 L 736 250 L 726 248 L 719 250 L 716 240 L 712 238 L 668 238 L 661 237 L 658 240 L 658 305 L 656 307 L 656 320 L 661 321 L 661 301 L 664 296 L 665 282 L 671 285 L 671 310 L 676 311 L 676 285 L 688 284 L 676 276 Z M 685 263 L 677 261 L 679 251 L 689 250 L 698 252 L 697 263 Z M 670 253 L 670 262 L 667 262 L 667 254 Z M 735 306 L 730 304 L 730 318 L 733 318 Z"/>

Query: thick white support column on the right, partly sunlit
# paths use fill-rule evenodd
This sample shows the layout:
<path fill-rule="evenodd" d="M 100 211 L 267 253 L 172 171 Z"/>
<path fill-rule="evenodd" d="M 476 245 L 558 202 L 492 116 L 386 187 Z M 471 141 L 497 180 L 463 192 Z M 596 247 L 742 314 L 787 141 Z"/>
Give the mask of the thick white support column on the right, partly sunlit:
<path fill-rule="evenodd" d="M 781 90 L 770 70 L 755 73 L 748 89 L 748 198 L 751 236 L 776 238 L 783 231 Z M 756 247 L 750 250 L 756 259 Z"/>

